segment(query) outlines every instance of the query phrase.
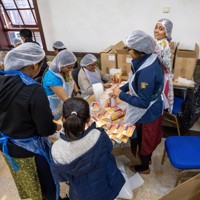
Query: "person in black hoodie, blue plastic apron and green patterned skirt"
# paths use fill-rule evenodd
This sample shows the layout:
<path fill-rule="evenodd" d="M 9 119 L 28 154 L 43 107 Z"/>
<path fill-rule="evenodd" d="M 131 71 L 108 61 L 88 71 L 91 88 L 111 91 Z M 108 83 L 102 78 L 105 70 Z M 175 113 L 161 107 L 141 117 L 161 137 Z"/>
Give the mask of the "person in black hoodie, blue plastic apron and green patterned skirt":
<path fill-rule="evenodd" d="M 33 80 L 44 57 L 39 45 L 24 43 L 8 52 L 0 71 L 0 150 L 21 199 L 60 199 L 47 137 L 61 127 L 53 122 L 43 87 Z"/>

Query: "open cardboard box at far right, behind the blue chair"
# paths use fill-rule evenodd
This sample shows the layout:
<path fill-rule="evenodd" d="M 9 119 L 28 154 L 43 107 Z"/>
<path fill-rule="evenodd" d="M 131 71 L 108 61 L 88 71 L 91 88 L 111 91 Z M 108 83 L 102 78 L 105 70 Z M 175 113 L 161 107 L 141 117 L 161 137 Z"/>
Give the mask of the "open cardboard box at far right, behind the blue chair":
<path fill-rule="evenodd" d="M 174 64 L 174 80 L 179 76 L 188 80 L 193 80 L 196 62 L 199 56 L 199 46 L 195 43 L 194 50 L 177 48 Z"/>

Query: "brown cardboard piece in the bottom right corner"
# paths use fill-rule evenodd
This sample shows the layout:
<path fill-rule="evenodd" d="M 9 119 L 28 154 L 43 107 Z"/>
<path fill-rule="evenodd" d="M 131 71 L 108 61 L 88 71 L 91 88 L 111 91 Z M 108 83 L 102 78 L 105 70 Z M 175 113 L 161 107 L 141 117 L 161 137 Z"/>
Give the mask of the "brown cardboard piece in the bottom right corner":
<path fill-rule="evenodd" d="M 200 174 L 178 185 L 160 200 L 200 200 Z"/>

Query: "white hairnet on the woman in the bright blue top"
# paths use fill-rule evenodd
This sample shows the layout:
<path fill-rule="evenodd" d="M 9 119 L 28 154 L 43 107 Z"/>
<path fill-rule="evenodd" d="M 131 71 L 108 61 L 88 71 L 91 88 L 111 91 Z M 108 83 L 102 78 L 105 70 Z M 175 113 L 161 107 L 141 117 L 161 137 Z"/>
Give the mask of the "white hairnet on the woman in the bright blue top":
<path fill-rule="evenodd" d="M 69 50 L 63 50 L 57 54 L 50 64 L 50 69 L 58 73 L 62 67 L 74 64 L 77 61 L 76 56 Z"/>

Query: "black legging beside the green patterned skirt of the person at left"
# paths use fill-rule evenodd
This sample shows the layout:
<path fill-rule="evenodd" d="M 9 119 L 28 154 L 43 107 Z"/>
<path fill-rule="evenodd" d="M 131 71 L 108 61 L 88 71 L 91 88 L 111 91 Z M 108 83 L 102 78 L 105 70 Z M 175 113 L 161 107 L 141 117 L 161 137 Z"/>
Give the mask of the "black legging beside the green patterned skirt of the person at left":
<path fill-rule="evenodd" d="M 56 185 L 53 180 L 53 176 L 48 162 L 43 156 L 35 156 L 35 163 L 37 167 L 38 177 L 40 180 L 40 186 L 42 195 L 45 200 L 56 199 Z"/>

